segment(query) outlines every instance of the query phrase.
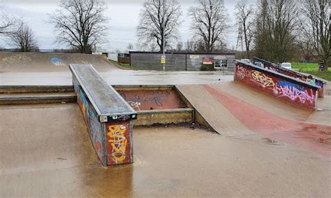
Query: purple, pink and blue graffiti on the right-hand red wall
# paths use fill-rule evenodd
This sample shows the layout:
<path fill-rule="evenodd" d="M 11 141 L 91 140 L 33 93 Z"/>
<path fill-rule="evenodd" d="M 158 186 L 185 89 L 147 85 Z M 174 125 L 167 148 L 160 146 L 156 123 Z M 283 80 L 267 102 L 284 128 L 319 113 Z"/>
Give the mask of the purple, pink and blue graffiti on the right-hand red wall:
<path fill-rule="evenodd" d="M 299 85 L 287 81 L 279 81 L 277 82 L 277 90 L 279 91 L 279 97 L 287 97 L 293 101 L 299 99 L 303 104 L 306 101 L 314 104 L 314 93 L 311 91 L 311 94 L 309 94 L 307 90 L 304 90 L 304 87 L 300 87 Z"/>

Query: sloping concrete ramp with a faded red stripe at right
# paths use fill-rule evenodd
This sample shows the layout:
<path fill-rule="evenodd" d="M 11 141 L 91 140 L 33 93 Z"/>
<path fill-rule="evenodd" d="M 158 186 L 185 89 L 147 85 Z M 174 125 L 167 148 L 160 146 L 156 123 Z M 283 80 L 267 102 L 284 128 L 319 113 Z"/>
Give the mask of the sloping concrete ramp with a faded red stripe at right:
<path fill-rule="evenodd" d="M 323 111 L 308 111 L 235 82 L 178 88 L 223 136 L 260 134 L 331 157 L 329 96 L 321 99 Z"/>

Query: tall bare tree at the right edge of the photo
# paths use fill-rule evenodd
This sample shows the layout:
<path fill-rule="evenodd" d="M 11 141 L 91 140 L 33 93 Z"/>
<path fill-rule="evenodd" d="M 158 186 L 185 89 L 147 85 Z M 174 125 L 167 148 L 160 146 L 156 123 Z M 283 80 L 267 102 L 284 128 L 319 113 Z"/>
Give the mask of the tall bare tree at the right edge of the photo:
<path fill-rule="evenodd" d="M 304 17 L 302 29 L 318 58 L 325 64 L 325 71 L 331 66 L 331 2 L 330 0 L 303 0 Z"/>

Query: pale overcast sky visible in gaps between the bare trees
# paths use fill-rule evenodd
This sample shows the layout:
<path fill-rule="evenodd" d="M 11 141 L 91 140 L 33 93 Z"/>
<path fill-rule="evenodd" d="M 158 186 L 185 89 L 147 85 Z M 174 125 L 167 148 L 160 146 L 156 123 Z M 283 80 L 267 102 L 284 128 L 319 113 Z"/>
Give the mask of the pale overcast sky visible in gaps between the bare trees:
<path fill-rule="evenodd" d="M 136 36 L 136 27 L 139 22 L 139 13 L 142 3 L 145 0 L 106 0 L 108 10 L 105 15 L 110 19 L 108 22 L 108 43 L 102 47 L 105 50 L 126 50 L 128 43 L 134 45 L 138 42 Z M 194 0 L 178 0 L 182 6 L 182 27 L 180 28 L 181 41 L 187 41 L 191 38 L 190 23 L 188 16 L 190 6 L 195 4 Z M 240 0 L 225 0 L 225 6 L 230 16 L 230 24 L 235 23 L 234 12 L 235 4 Z M 256 0 L 249 0 L 255 2 Z M 57 8 L 59 0 L 0 0 L 1 5 L 6 12 L 23 17 L 29 26 L 34 29 L 38 44 L 41 49 L 60 48 L 54 43 L 54 27 L 47 24 L 47 14 L 53 13 Z M 189 33 L 189 34 L 188 34 Z M 234 29 L 228 30 L 228 47 L 236 44 L 236 34 Z M 0 45 L 8 46 L 3 39 Z M 63 47 L 63 46 L 62 46 Z"/>

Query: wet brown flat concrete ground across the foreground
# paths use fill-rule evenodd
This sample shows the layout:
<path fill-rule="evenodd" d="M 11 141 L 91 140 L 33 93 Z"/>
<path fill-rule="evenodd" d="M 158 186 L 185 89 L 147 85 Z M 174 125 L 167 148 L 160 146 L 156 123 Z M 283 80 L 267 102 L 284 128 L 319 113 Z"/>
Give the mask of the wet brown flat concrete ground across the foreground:
<path fill-rule="evenodd" d="M 102 167 L 75 104 L 0 106 L 0 197 L 330 197 L 330 160 L 255 134 L 134 128 Z"/>

